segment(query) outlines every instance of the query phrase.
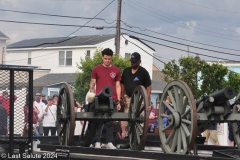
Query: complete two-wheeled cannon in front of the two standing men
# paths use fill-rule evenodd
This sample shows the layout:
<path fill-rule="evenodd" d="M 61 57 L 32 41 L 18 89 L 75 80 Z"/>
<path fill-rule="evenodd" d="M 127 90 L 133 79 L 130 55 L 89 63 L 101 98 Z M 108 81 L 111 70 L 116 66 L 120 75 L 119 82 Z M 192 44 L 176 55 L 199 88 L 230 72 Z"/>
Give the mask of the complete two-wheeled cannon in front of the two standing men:
<path fill-rule="evenodd" d="M 74 111 L 74 98 L 70 86 L 65 83 L 60 88 L 57 105 L 57 132 L 61 145 L 71 146 L 74 138 L 75 121 L 84 121 L 81 140 L 84 147 L 89 147 L 95 134 L 97 123 L 107 121 L 128 121 L 130 147 L 142 150 L 148 132 L 148 105 L 147 93 L 143 86 L 137 86 L 132 94 L 129 113 L 114 112 L 116 104 L 111 95 L 113 90 L 105 86 L 88 104 L 87 112 Z M 83 137 L 86 121 L 88 129 Z"/>

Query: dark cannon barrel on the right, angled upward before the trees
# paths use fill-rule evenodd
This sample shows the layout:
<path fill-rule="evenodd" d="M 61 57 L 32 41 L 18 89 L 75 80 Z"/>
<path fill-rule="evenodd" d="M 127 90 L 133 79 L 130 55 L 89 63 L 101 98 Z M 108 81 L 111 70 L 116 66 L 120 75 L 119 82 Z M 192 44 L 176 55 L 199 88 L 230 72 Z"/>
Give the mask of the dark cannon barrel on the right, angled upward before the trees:
<path fill-rule="evenodd" d="M 207 99 L 205 99 L 204 101 L 206 101 L 206 103 L 208 103 L 209 97 L 212 97 L 214 99 L 214 105 L 217 106 L 217 105 L 222 105 L 224 102 L 234 98 L 235 96 L 236 96 L 235 90 L 231 87 L 226 87 L 222 90 L 216 91 L 216 92 L 206 96 Z M 203 101 L 203 99 L 197 100 L 196 106 L 198 106 L 201 101 Z"/>

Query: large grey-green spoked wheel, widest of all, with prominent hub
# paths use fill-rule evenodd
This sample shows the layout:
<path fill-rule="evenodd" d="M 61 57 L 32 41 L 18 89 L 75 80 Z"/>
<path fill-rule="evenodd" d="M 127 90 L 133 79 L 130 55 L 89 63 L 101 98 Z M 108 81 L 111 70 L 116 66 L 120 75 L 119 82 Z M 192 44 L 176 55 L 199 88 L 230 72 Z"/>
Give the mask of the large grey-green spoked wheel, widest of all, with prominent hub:
<path fill-rule="evenodd" d="M 166 99 L 170 98 L 170 103 Z M 193 94 L 183 81 L 172 81 L 164 89 L 158 112 L 159 136 L 166 153 L 186 154 L 197 134 L 197 112 Z M 164 127 L 164 121 L 168 121 Z M 166 131 L 170 130 L 170 134 Z"/>

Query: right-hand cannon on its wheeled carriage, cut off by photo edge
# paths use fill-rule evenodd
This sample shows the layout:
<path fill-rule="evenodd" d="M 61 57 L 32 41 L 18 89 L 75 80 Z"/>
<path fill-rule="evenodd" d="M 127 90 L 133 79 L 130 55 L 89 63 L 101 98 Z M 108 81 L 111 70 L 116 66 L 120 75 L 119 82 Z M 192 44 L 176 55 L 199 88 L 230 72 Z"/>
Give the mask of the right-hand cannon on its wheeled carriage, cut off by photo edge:
<path fill-rule="evenodd" d="M 167 96 L 170 97 L 171 104 L 166 102 Z M 234 104 L 229 103 L 235 96 L 235 90 L 227 87 L 196 101 L 190 88 L 183 81 L 167 84 L 160 100 L 158 119 L 159 136 L 164 152 L 186 154 L 193 148 L 198 135 L 212 124 L 224 122 L 232 122 L 234 138 L 240 149 L 240 129 L 237 125 L 240 121 L 237 113 L 240 96 L 237 96 Z M 170 111 L 169 114 L 165 114 L 166 109 Z M 163 118 L 168 120 L 166 127 Z M 166 134 L 168 130 L 170 134 Z"/>

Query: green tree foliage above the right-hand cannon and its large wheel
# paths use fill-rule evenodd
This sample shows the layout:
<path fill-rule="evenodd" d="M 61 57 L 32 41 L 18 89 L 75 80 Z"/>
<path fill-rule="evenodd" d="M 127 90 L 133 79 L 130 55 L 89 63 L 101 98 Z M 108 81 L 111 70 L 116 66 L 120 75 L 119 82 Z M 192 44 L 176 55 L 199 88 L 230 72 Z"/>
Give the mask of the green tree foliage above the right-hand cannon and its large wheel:
<path fill-rule="evenodd" d="M 221 64 L 210 65 L 196 57 L 182 57 L 178 64 L 172 60 L 164 65 L 162 71 L 166 82 L 174 79 L 186 82 L 196 99 L 227 86 L 234 88 L 237 93 L 240 91 L 238 73 L 229 71 Z"/>

